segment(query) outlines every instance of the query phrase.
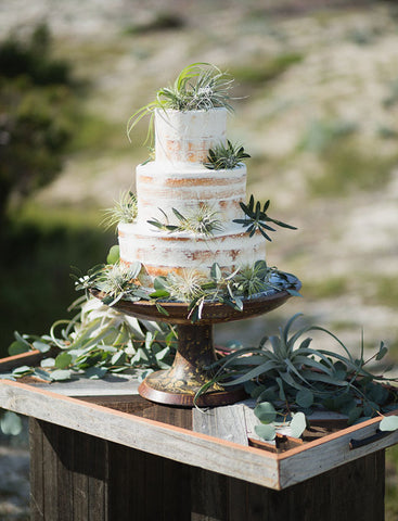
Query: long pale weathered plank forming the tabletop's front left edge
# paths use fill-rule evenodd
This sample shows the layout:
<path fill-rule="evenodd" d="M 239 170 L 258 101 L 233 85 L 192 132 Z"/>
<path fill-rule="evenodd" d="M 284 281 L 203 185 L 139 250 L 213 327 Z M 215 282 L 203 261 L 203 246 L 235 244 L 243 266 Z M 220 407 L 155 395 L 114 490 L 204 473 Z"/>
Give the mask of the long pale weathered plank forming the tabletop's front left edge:
<path fill-rule="evenodd" d="M 0 381 L 0 406 L 176 461 L 278 486 L 278 459 L 264 450 L 12 381 Z"/>

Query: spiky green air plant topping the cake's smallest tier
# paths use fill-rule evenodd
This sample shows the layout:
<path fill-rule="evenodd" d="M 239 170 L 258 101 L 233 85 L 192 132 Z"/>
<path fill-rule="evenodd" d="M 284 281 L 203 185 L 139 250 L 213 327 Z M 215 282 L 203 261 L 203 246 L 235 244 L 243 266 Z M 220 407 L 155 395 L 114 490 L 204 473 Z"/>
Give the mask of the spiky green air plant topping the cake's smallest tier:
<path fill-rule="evenodd" d="M 184 67 L 168 87 L 162 87 L 156 92 L 154 101 L 139 109 L 127 123 L 127 136 L 145 116 L 150 116 L 150 126 L 146 141 L 153 139 L 153 117 L 156 109 L 188 111 L 209 111 L 224 107 L 232 112 L 230 90 L 233 79 L 216 65 L 205 62 L 192 63 Z"/>

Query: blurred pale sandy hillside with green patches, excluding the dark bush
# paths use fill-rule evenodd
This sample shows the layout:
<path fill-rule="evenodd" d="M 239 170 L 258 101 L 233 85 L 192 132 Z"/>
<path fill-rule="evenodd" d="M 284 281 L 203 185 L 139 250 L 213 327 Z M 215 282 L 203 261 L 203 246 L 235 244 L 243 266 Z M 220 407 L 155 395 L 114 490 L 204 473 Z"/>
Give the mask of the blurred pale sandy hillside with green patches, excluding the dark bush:
<path fill-rule="evenodd" d="M 90 78 L 88 110 L 110 132 L 105 145 L 102 137 L 69 156 L 36 204 L 110 206 L 146 156 L 143 129 L 132 144 L 125 137 L 128 116 L 187 64 L 215 63 L 235 75 L 242 97 L 229 128 L 252 154 L 248 192 L 270 198 L 274 215 L 298 227 L 278 233 L 268 260 L 303 280 L 304 298 L 274 316 L 303 312 L 352 350 L 364 328 L 368 348 L 384 339 L 398 352 L 398 10 L 382 1 L 262 3 L 0 0 L 1 35 L 49 23 L 59 55 Z M 258 339 L 264 321 L 253 322 Z M 252 342 L 253 331 L 235 323 L 218 335 Z M 0 452 L 2 468 L 15 455 L 22 476 L 0 473 L 0 519 L 14 519 L 13 508 L 25 516 L 17 496 L 7 507 L 10 483 L 27 487 L 18 450 Z"/>

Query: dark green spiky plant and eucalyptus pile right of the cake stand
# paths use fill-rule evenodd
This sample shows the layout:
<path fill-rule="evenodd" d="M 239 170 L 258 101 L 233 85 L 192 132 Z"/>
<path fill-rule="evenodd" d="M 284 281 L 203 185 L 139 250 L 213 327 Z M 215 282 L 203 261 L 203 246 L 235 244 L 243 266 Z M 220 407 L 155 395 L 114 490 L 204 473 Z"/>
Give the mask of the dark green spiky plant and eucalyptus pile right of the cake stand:
<path fill-rule="evenodd" d="M 317 410 L 341 412 L 352 424 L 382 417 L 397 407 L 397 392 L 386 386 L 397 379 L 385 377 L 389 368 L 378 364 L 388 352 L 383 342 L 365 359 L 362 335 L 360 356 L 355 358 L 334 333 L 322 327 L 305 326 L 291 333 L 300 315 L 280 327 L 279 334 L 265 336 L 258 347 L 236 350 L 214 366 L 218 369 L 214 381 L 227 387 L 244 384 L 256 399 L 255 414 L 260 420 L 256 432 L 260 437 L 273 440 L 278 428 L 287 425 L 298 437 L 306 428 L 306 417 Z M 341 352 L 311 347 L 312 339 L 307 333 L 312 331 L 337 342 Z M 371 370 L 369 366 L 374 363 L 376 367 Z M 383 419 L 380 428 L 397 429 L 398 417 L 391 418 Z"/>

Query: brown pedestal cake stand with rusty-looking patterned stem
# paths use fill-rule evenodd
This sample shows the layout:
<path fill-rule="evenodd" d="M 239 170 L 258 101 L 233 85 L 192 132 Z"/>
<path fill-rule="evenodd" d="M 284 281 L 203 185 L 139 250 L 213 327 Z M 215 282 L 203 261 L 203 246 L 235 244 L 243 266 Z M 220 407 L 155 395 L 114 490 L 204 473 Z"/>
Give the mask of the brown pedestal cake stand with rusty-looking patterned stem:
<path fill-rule="evenodd" d="M 291 276 L 291 288 L 300 289 L 299 280 Z M 104 293 L 91 290 L 98 298 Z M 201 319 L 192 323 L 188 318 L 188 305 L 178 302 L 162 302 L 168 316 L 162 314 L 153 302 L 118 301 L 112 307 L 120 313 L 145 320 L 155 320 L 177 325 L 178 348 L 170 369 L 151 373 L 139 386 L 139 393 L 152 402 L 180 407 L 192 407 L 197 391 L 210 382 L 214 376 L 208 367 L 217 356 L 213 343 L 213 326 L 219 322 L 243 320 L 269 313 L 282 306 L 291 294 L 285 290 L 272 290 L 265 294 L 243 301 L 243 310 L 233 309 L 227 304 L 205 303 Z M 245 397 L 242 387 L 222 387 L 213 384 L 200 394 L 195 404 L 198 406 L 220 406 L 233 404 Z"/>

